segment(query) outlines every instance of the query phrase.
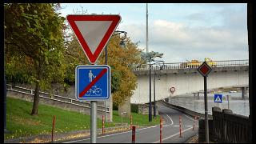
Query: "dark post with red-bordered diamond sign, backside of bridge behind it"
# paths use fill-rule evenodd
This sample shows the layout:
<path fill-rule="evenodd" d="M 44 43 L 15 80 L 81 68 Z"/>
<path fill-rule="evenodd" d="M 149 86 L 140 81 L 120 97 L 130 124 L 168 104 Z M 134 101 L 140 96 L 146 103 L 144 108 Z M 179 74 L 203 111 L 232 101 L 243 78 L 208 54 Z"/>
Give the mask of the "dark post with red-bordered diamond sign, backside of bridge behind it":
<path fill-rule="evenodd" d="M 208 125 L 208 106 L 207 106 L 207 75 L 211 71 L 211 67 L 203 62 L 201 66 L 198 67 L 198 71 L 203 76 L 204 82 L 204 100 L 205 100 L 205 129 L 206 129 L 206 143 L 209 143 L 209 125 Z"/>

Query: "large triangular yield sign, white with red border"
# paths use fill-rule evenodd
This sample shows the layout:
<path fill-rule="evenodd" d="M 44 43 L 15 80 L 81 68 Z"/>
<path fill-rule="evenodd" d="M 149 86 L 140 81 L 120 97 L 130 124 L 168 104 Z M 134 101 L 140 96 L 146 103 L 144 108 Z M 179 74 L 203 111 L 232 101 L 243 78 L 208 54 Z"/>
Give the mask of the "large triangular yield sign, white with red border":
<path fill-rule="evenodd" d="M 67 15 L 90 63 L 95 63 L 121 20 L 120 15 Z"/>

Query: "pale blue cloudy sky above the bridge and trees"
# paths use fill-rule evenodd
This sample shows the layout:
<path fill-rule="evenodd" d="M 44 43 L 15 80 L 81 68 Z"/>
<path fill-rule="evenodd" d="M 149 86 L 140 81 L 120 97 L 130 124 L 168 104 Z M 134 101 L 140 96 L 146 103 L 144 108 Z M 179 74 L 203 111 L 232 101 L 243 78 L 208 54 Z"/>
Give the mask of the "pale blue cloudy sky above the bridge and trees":
<path fill-rule="evenodd" d="M 120 14 L 118 30 L 146 51 L 146 3 L 63 3 L 62 16 Z M 246 4 L 148 4 L 149 51 L 165 62 L 248 59 Z"/>

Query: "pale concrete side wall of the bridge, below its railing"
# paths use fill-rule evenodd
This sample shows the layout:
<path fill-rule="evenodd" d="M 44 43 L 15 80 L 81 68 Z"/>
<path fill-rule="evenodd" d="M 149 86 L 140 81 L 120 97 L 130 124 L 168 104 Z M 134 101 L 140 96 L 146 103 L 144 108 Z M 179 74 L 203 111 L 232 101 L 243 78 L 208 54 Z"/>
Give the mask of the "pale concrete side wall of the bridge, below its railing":
<path fill-rule="evenodd" d="M 148 70 L 134 71 L 138 76 L 138 88 L 134 90 L 131 103 L 147 103 L 149 99 L 149 72 Z M 181 70 L 157 70 L 157 74 L 161 74 L 160 80 L 155 83 L 156 101 L 163 98 L 173 97 L 181 94 L 191 94 L 203 90 L 203 77 L 197 69 L 181 69 Z M 153 81 L 154 71 L 151 75 L 151 95 L 154 95 Z M 207 88 L 215 89 L 227 86 L 241 86 L 249 84 L 248 66 L 234 67 L 216 67 L 213 68 L 207 78 Z M 170 93 L 170 87 L 175 88 L 173 94 Z M 154 97 L 151 97 L 153 102 Z"/>

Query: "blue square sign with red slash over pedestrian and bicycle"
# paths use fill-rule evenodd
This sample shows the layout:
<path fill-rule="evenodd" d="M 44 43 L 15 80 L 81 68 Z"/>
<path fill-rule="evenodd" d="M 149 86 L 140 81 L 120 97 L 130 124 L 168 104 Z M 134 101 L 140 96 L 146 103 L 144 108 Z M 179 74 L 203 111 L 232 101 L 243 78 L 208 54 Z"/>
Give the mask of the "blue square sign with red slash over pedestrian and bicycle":
<path fill-rule="evenodd" d="M 110 98 L 110 66 L 77 66 L 75 90 L 80 101 L 105 101 Z"/>

